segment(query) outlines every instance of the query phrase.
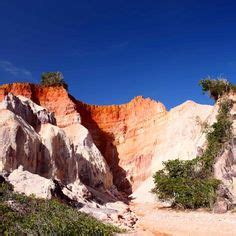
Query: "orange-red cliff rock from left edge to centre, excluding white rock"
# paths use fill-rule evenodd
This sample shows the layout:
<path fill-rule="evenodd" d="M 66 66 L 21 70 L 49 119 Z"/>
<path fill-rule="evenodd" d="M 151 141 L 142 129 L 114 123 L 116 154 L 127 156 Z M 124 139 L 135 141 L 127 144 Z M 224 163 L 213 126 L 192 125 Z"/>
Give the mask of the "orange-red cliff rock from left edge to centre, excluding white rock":
<path fill-rule="evenodd" d="M 0 87 L 0 101 L 7 93 L 22 95 L 55 113 L 57 124 L 81 122 L 110 166 L 116 186 L 131 192 L 151 174 L 157 135 L 165 107 L 149 98 L 136 97 L 124 105 L 95 106 L 76 101 L 62 87 L 9 84 Z"/>

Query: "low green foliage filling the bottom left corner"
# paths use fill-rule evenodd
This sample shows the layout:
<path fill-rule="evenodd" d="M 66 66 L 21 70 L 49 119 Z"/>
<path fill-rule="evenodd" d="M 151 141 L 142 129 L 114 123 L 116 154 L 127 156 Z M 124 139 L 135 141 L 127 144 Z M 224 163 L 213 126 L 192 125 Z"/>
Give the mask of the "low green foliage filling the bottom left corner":
<path fill-rule="evenodd" d="M 112 235 L 105 225 L 58 200 L 36 199 L 0 184 L 0 235 Z"/>

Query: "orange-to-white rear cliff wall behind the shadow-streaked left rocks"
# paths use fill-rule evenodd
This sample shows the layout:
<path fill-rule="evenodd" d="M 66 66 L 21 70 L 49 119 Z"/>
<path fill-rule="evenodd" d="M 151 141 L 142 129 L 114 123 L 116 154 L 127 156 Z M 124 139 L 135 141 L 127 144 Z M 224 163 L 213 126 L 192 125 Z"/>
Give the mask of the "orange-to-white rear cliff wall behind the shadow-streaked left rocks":
<path fill-rule="evenodd" d="M 58 127 L 69 132 L 71 143 L 77 138 L 72 127 L 86 127 L 106 159 L 115 185 L 127 193 L 161 168 L 162 161 L 193 158 L 198 144 L 204 142 L 200 123 L 213 109 L 186 102 L 168 112 L 162 103 L 143 97 L 124 105 L 96 106 L 77 101 L 63 87 L 33 84 L 1 86 L 0 100 L 9 92 L 54 113 Z"/>

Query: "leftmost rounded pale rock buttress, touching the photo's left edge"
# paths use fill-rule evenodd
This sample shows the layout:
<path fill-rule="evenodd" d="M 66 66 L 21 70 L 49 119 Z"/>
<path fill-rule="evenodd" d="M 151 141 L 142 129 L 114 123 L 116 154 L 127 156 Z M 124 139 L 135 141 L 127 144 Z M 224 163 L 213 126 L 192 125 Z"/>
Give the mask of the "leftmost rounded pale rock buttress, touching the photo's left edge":
<path fill-rule="evenodd" d="M 32 173 L 42 162 L 41 139 L 32 126 L 9 110 L 0 110 L 0 172 L 22 165 Z"/>

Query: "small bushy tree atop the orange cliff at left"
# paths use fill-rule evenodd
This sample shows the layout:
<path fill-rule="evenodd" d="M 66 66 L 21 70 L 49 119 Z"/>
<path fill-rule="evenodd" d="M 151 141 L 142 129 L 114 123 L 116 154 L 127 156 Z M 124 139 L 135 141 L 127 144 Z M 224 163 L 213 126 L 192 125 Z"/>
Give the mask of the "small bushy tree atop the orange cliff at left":
<path fill-rule="evenodd" d="M 63 74 L 59 71 L 57 72 L 45 72 L 41 76 L 41 84 L 44 86 L 63 86 L 68 90 L 68 85 L 64 81 Z"/>

